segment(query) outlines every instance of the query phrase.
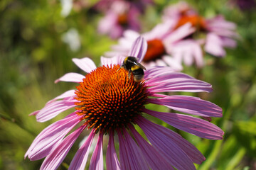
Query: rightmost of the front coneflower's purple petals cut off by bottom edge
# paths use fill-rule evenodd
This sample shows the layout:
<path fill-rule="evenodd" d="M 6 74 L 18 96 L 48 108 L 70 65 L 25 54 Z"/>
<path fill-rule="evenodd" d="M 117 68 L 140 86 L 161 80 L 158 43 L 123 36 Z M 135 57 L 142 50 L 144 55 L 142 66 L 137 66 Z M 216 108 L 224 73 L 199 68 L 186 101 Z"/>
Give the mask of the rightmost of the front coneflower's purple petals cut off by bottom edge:
<path fill-rule="evenodd" d="M 196 169 L 186 152 L 175 142 L 172 142 L 171 137 L 149 125 L 149 120 L 140 116 L 136 123 L 142 128 L 151 145 L 156 147 L 172 166 L 176 169 Z"/>

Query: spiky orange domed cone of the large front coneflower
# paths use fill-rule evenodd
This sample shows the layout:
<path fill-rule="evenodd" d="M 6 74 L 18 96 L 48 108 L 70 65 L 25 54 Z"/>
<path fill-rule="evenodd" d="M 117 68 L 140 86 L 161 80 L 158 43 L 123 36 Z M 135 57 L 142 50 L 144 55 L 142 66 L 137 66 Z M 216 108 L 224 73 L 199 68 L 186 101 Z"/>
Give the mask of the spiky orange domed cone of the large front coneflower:
<path fill-rule="evenodd" d="M 84 114 L 85 125 L 96 131 L 127 127 L 142 113 L 148 97 L 143 81 L 134 81 L 127 70 L 112 67 L 98 67 L 80 82 L 75 91 L 76 108 Z"/>

